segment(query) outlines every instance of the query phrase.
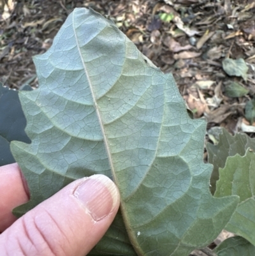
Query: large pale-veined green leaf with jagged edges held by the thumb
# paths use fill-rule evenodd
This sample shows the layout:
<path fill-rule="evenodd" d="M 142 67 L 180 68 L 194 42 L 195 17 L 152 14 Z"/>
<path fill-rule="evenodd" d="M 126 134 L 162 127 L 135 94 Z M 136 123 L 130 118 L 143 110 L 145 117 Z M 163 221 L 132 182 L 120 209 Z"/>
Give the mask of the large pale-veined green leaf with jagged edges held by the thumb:
<path fill-rule="evenodd" d="M 138 255 L 188 255 L 219 234 L 238 198 L 210 194 L 206 122 L 189 118 L 172 75 L 85 8 L 34 63 L 40 87 L 20 93 L 32 143 L 11 143 L 31 190 L 18 215 L 74 179 L 102 173 L 119 187 L 122 231 Z M 102 241 L 97 249 L 117 254 Z"/>

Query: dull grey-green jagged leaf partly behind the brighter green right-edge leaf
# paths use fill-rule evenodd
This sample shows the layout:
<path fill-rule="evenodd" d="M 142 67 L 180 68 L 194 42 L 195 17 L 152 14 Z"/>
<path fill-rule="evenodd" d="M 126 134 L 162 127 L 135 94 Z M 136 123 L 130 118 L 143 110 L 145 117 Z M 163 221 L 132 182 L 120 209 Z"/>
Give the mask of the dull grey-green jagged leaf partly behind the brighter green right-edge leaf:
<path fill-rule="evenodd" d="M 222 128 L 222 134 L 219 135 L 217 145 L 207 143 L 208 162 L 214 165 L 210 181 L 212 193 L 215 192 L 216 181 L 219 179 L 219 167 L 225 166 L 228 156 L 235 156 L 235 154 L 244 156 L 248 147 L 255 151 L 255 139 L 251 139 L 245 133 L 237 133 L 232 136 L 224 128 Z"/>

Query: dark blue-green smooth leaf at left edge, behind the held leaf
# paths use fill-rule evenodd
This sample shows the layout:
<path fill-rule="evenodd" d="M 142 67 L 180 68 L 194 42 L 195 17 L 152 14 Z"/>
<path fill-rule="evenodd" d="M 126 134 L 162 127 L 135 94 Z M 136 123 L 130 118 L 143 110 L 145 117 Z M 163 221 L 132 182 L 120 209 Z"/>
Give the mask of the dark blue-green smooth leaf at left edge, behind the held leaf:
<path fill-rule="evenodd" d="M 28 90 L 27 87 L 24 89 Z M 0 166 L 15 162 L 10 151 L 11 140 L 30 142 L 24 130 L 26 123 L 18 91 L 4 87 L 0 82 Z"/>

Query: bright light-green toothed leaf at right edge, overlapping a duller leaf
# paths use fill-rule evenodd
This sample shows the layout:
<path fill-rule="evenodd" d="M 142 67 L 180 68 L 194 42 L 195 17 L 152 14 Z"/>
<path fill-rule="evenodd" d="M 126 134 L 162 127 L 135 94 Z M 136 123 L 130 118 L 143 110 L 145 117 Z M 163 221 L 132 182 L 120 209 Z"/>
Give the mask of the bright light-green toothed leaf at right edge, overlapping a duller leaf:
<path fill-rule="evenodd" d="M 236 154 L 219 169 L 215 197 L 238 195 L 240 202 L 225 229 L 245 237 L 255 245 L 255 153 L 247 149 L 244 156 Z"/>

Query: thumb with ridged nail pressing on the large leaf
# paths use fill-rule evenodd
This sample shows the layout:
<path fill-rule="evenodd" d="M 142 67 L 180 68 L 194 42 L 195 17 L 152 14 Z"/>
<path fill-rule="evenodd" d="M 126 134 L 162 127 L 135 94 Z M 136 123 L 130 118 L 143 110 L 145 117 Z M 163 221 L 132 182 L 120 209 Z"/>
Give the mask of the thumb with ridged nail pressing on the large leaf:
<path fill-rule="evenodd" d="M 78 179 L 6 229 L 1 255 L 84 256 L 112 223 L 119 200 L 108 177 Z"/>

